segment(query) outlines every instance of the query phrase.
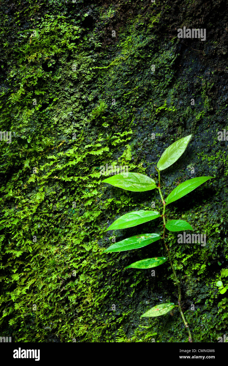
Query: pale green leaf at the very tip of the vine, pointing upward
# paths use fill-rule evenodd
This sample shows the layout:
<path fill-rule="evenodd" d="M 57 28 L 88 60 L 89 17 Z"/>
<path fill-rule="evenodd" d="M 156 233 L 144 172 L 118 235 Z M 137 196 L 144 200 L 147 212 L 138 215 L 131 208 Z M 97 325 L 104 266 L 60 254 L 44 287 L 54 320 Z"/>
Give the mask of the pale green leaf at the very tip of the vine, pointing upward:
<path fill-rule="evenodd" d="M 175 163 L 175 161 L 177 161 L 179 157 L 182 156 L 188 145 L 188 142 L 190 141 L 190 138 L 191 135 L 188 135 L 173 142 L 172 145 L 167 147 L 157 163 L 158 169 L 164 170 Z"/>

